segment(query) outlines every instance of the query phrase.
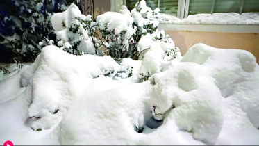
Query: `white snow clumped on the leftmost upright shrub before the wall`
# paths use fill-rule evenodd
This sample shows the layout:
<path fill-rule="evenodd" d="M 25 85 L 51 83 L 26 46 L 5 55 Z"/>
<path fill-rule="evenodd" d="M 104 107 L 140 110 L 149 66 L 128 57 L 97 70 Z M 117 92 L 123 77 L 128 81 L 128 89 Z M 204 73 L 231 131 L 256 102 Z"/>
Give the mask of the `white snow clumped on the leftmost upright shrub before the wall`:
<path fill-rule="evenodd" d="M 83 21 L 92 21 L 91 15 L 82 15 L 79 8 L 72 3 L 67 10 L 62 13 L 55 13 L 51 16 L 51 24 L 55 33 L 57 35 L 58 46 L 60 49 L 69 49 L 72 48 L 71 42 L 78 42 L 81 43 L 78 45 L 78 53 L 82 51 L 85 54 L 95 54 L 95 47 L 92 41 L 88 36 L 88 32 L 83 29 L 83 25 L 79 24 L 79 20 Z M 74 28 L 74 26 L 78 25 L 78 33 L 81 33 L 82 36 L 78 34 L 74 34 L 69 29 Z"/>

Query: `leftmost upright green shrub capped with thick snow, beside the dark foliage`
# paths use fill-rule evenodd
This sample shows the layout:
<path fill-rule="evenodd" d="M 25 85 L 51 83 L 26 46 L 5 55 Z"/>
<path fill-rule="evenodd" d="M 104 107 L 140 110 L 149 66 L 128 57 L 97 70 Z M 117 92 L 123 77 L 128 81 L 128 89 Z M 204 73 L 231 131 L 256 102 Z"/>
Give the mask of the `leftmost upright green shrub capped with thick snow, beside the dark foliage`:
<path fill-rule="evenodd" d="M 93 34 L 88 35 L 91 22 L 91 16 L 82 15 L 74 3 L 64 12 L 55 13 L 51 23 L 57 35 L 57 46 L 70 54 L 97 54 L 97 44 L 93 44 L 96 38 L 92 38 Z M 51 42 L 42 42 L 42 47 L 48 44 Z"/>

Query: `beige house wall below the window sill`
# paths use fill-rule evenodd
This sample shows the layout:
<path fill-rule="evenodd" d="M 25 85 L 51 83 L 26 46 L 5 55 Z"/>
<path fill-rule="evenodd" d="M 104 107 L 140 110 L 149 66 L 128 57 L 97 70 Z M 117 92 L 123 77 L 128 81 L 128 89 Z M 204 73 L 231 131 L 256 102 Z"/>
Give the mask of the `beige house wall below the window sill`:
<path fill-rule="evenodd" d="M 165 31 L 170 35 L 184 55 L 192 45 L 199 42 L 212 47 L 225 49 L 245 49 L 256 56 L 259 64 L 259 34 L 258 33 L 211 33 L 197 31 Z"/>

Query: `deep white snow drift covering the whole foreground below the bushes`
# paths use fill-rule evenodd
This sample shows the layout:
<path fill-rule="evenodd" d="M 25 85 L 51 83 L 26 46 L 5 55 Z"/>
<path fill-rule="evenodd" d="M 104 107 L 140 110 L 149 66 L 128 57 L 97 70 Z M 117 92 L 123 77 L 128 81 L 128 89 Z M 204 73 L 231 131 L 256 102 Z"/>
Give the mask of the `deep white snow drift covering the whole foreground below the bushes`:
<path fill-rule="evenodd" d="M 144 58 L 159 56 L 147 52 Z M 259 145 L 259 67 L 251 53 L 195 44 L 182 59 L 148 62 L 119 65 L 44 47 L 35 63 L 0 81 L 0 143 Z M 125 66 L 133 75 L 115 78 Z M 138 83 L 143 67 L 160 70 Z"/>

